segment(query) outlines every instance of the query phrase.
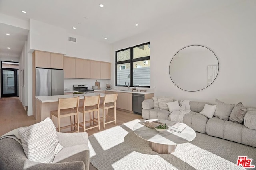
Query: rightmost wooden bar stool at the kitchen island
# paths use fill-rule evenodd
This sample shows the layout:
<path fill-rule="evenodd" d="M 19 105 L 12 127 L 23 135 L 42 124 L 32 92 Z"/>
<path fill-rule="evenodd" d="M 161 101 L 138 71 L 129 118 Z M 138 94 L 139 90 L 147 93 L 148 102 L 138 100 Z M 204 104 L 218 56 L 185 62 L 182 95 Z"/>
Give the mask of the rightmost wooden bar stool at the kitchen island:
<path fill-rule="evenodd" d="M 108 123 L 114 122 L 116 125 L 116 99 L 117 99 L 117 93 L 116 94 L 106 94 L 104 98 L 104 102 L 102 105 L 100 105 L 100 108 L 103 110 L 103 128 L 105 129 L 105 125 Z M 111 117 L 108 115 L 108 109 L 114 108 L 114 117 Z M 114 120 L 112 121 L 105 121 L 107 120 L 108 117 L 113 118 Z M 99 120 L 99 119 L 98 119 Z"/>

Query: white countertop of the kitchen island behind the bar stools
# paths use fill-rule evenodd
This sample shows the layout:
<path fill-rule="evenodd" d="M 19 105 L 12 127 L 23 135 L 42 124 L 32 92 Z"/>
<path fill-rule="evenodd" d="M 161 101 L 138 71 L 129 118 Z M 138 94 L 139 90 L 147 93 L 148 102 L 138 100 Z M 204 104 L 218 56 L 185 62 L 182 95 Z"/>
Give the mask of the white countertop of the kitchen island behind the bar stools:
<path fill-rule="evenodd" d="M 84 96 L 97 96 L 104 97 L 105 93 L 85 93 Z M 80 96 L 80 99 L 84 99 L 84 96 Z M 54 96 L 36 96 L 36 100 L 39 100 L 41 103 L 47 102 L 58 102 L 59 98 L 72 98 L 75 97 L 73 94 L 64 94 L 64 95 L 54 95 Z"/>

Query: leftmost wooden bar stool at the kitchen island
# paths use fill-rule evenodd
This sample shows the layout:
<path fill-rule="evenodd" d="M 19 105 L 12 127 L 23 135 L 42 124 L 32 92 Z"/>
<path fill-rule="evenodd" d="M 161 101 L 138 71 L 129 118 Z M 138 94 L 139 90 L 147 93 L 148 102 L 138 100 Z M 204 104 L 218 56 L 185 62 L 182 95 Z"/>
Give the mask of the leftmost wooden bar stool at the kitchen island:
<path fill-rule="evenodd" d="M 79 107 L 79 97 L 74 98 L 59 98 L 58 101 L 58 110 L 51 111 L 51 119 L 52 116 L 57 117 L 58 119 L 58 132 L 60 132 L 60 129 L 65 129 L 72 126 L 77 128 L 77 132 L 79 132 L 79 127 L 72 123 L 72 116 L 77 117 L 77 122 L 79 122 L 79 116 L 78 116 L 78 107 Z M 76 108 L 76 109 L 74 109 Z M 63 117 L 70 117 L 71 124 L 68 126 L 60 127 L 60 118 Z M 76 121 L 76 120 L 75 120 Z"/>

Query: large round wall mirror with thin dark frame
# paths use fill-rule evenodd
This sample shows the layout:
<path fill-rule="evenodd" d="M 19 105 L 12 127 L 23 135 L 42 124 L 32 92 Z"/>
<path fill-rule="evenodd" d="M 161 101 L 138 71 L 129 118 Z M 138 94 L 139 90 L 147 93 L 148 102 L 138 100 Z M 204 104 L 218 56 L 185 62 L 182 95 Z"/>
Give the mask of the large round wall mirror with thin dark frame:
<path fill-rule="evenodd" d="M 216 55 L 201 45 L 190 45 L 178 51 L 169 66 L 172 82 L 180 89 L 195 92 L 208 87 L 219 71 Z"/>

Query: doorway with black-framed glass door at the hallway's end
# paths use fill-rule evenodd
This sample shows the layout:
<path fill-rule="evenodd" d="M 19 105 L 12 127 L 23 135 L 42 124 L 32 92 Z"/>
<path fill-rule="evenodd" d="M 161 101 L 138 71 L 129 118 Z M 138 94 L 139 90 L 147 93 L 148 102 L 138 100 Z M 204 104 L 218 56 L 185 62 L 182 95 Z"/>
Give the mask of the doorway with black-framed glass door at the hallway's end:
<path fill-rule="evenodd" d="M 1 97 L 18 96 L 19 63 L 1 61 Z"/>

